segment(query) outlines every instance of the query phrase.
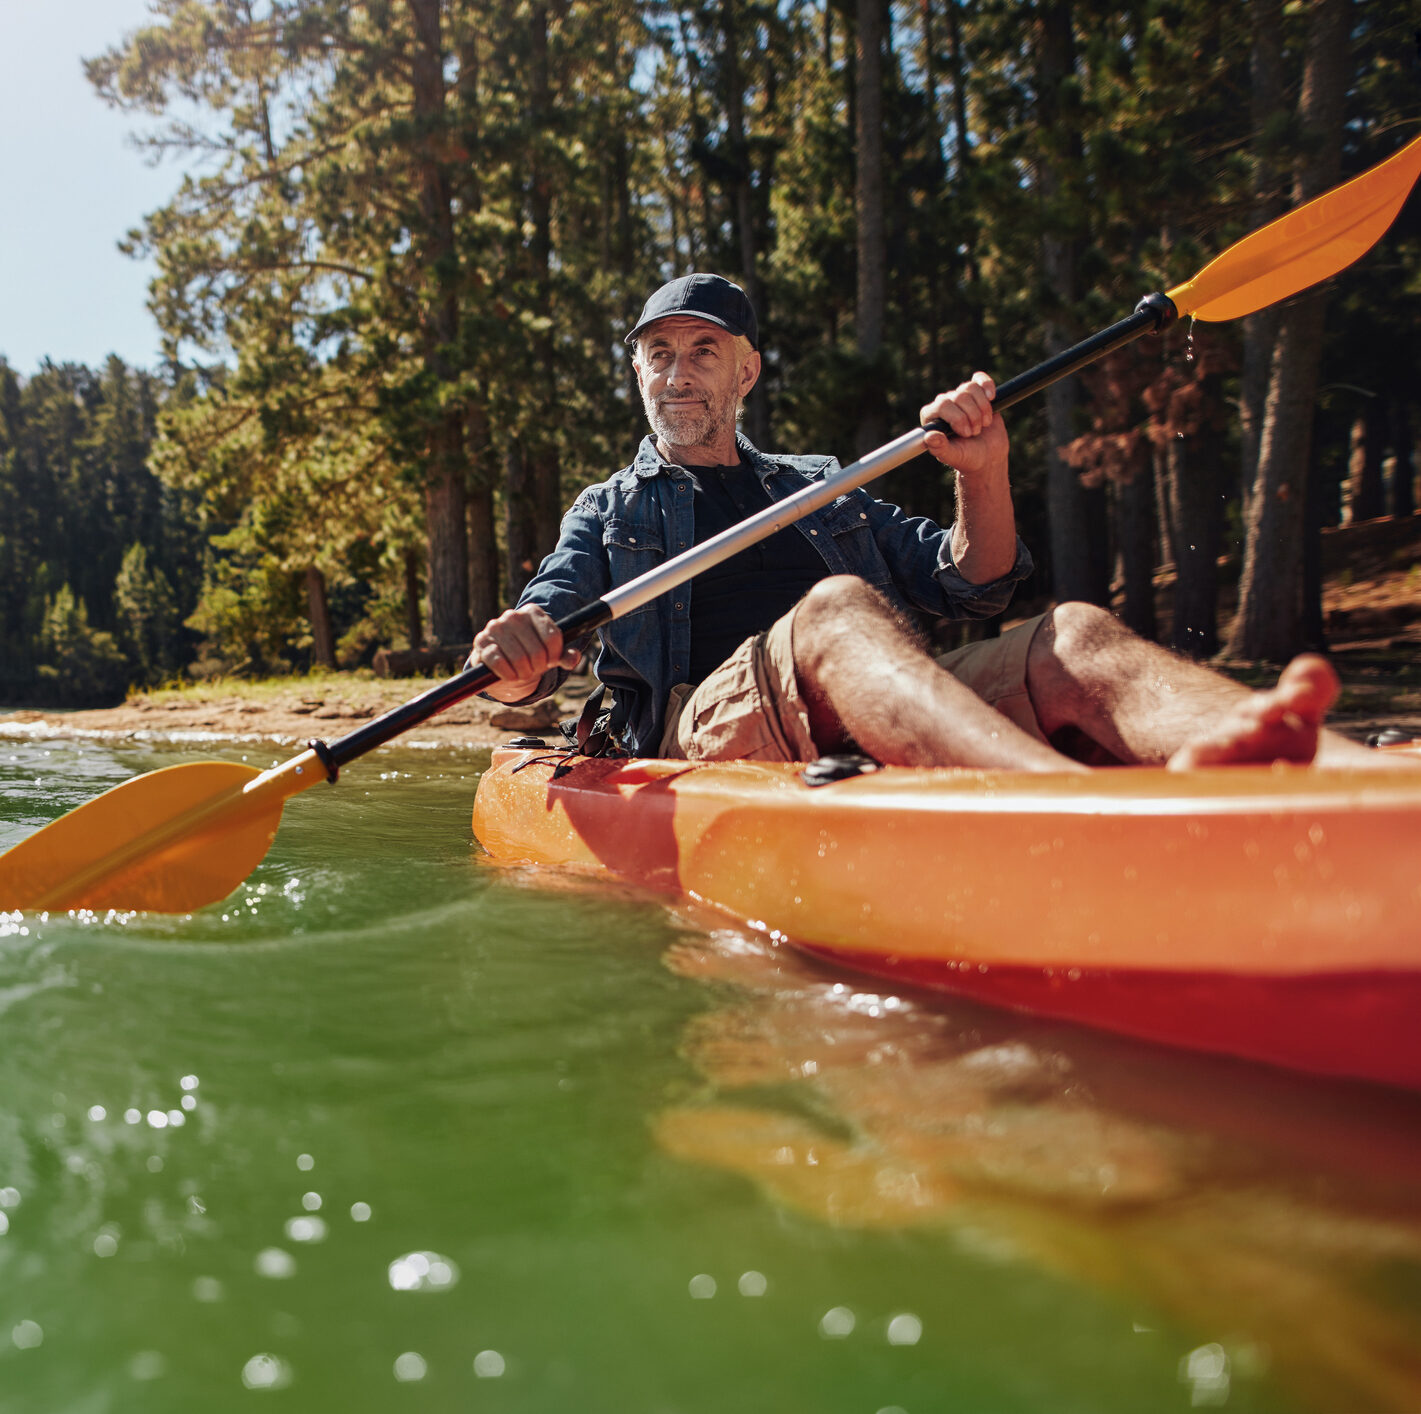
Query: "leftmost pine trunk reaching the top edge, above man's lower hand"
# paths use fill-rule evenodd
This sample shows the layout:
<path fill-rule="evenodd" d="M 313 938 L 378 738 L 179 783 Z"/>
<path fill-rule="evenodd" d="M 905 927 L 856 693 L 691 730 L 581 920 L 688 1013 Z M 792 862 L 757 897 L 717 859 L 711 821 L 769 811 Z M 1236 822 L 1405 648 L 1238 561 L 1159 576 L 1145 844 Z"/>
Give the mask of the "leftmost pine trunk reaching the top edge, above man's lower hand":
<path fill-rule="evenodd" d="M 415 23 L 411 55 L 415 125 L 419 135 L 418 180 L 422 264 L 435 293 L 425 310 L 422 355 L 436 387 L 453 377 L 452 351 L 459 337 L 459 256 L 453 239 L 449 161 L 443 153 L 445 81 L 441 0 L 408 0 Z M 425 517 L 429 534 L 429 631 L 435 642 L 469 642 L 469 547 L 465 530 L 465 455 L 462 412 L 431 414 L 426 438 Z"/>

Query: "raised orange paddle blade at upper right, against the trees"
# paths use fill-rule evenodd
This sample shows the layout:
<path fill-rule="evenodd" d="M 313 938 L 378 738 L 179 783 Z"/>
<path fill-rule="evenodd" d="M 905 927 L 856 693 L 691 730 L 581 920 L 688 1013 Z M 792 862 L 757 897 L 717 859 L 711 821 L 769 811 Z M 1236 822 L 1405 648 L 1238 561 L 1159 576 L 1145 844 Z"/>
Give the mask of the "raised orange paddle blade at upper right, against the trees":
<path fill-rule="evenodd" d="M 1383 236 L 1421 173 L 1421 138 L 1229 246 L 1169 291 L 1181 317 L 1236 320 L 1346 269 Z"/>

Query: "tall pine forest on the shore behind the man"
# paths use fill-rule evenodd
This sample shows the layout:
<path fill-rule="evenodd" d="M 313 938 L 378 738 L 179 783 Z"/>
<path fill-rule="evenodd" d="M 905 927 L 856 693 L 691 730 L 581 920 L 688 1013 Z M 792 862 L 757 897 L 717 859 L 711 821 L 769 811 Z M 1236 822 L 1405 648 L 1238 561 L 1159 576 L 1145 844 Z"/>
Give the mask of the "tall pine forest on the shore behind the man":
<path fill-rule="evenodd" d="M 149 11 L 85 68 L 185 173 L 114 233 L 162 360 L 0 358 L 0 701 L 453 661 L 631 460 L 622 335 L 672 276 L 759 311 L 750 439 L 847 462 L 1421 132 L 1421 0 Z M 1322 529 L 1415 510 L 1418 257 L 1412 198 L 1324 284 L 1009 412 L 1013 612 L 1322 645 Z M 931 459 L 877 493 L 953 514 Z"/>

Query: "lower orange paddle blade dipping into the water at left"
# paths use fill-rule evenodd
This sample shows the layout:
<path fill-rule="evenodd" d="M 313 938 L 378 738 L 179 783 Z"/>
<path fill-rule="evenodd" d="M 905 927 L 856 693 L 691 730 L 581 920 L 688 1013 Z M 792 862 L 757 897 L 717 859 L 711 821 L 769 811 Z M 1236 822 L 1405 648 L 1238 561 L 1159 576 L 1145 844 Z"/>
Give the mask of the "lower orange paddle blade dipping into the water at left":
<path fill-rule="evenodd" d="M 180 914 L 216 902 L 261 863 L 293 793 L 259 780 L 233 762 L 126 780 L 0 854 L 0 908 Z"/>

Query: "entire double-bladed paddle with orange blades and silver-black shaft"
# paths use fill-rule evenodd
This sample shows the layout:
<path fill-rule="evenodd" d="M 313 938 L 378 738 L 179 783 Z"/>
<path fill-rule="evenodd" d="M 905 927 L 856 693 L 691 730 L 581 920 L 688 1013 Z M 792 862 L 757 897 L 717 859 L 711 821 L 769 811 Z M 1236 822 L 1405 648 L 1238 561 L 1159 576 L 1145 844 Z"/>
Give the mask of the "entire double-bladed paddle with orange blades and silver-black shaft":
<path fill-rule="evenodd" d="M 1147 330 L 1192 314 L 1229 320 L 1324 280 L 1370 249 L 1421 172 L 1421 138 L 1388 161 L 1262 230 L 1245 236 L 1192 280 L 1151 294 L 1135 313 L 1002 384 L 998 409 L 1064 378 Z M 911 460 L 929 431 L 914 428 L 814 486 L 668 560 L 558 622 L 564 639 L 588 634 L 831 500 Z M 496 681 L 485 666 L 438 684 L 330 743 L 259 772 L 230 762 L 169 766 L 117 786 L 0 856 L 0 908 L 148 908 L 188 912 L 232 892 L 264 857 L 281 807 L 341 766 Z"/>

